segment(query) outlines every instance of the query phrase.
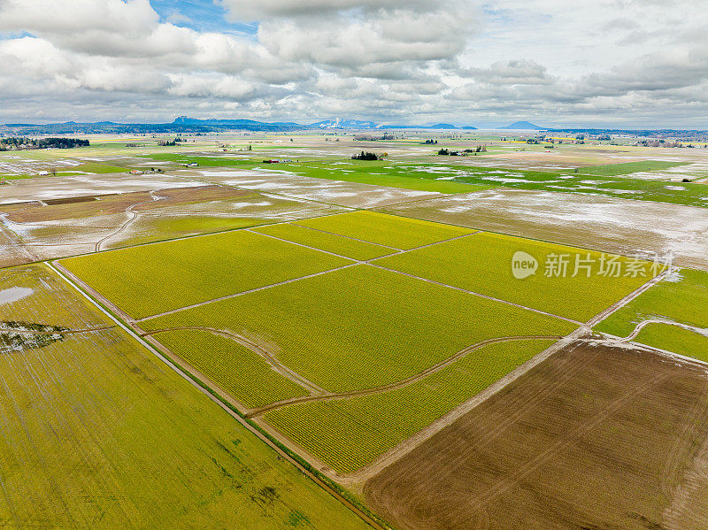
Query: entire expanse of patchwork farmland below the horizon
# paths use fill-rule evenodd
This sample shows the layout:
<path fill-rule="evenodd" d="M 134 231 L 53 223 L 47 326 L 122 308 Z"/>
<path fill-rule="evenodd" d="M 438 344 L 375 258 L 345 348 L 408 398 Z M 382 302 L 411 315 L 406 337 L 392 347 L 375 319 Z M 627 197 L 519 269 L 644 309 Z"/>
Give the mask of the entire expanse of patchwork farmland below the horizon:
<path fill-rule="evenodd" d="M 91 140 L 0 154 L 0 526 L 704 528 L 704 150 Z"/>

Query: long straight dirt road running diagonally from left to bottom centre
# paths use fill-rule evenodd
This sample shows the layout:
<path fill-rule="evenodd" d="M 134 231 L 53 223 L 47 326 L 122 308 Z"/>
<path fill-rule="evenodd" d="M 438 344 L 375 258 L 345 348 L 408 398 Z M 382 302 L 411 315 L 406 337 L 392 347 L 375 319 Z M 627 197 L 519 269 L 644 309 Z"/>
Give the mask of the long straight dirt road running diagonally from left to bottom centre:
<path fill-rule="evenodd" d="M 244 428 L 246 428 L 251 434 L 254 434 L 256 437 L 261 442 L 266 443 L 268 447 L 273 449 L 279 457 L 284 458 L 287 460 L 291 465 L 294 465 L 297 470 L 302 472 L 304 475 L 306 475 L 309 479 L 311 479 L 315 484 L 317 484 L 320 488 L 324 489 L 327 491 L 329 495 L 332 495 L 335 500 L 339 501 L 339 503 L 342 503 L 346 508 L 349 508 L 350 511 L 354 512 L 359 518 L 364 520 L 366 524 L 369 526 L 372 526 L 373 528 L 376 528 L 377 530 L 388 530 L 386 526 L 382 526 L 379 524 L 376 520 L 371 518 L 368 514 L 366 514 L 365 511 L 362 511 L 356 504 L 352 503 L 349 499 L 347 499 L 345 496 L 340 494 L 335 490 L 335 488 L 332 488 L 325 482 L 324 480 L 320 479 L 314 472 L 311 472 L 308 470 L 304 465 L 300 464 L 294 457 L 291 457 L 288 452 L 285 450 L 281 449 L 281 447 L 278 446 L 275 442 L 273 442 L 266 434 L 261 433 L 256 427 L 250 425 L 248 421 L 243 419 L 239 414 L 237 414 L 235 411 L 233 411 L 231 408 L 225 404 L 220 397 L 215 396 L 210 392 L 210 389 L 204 388 L 202 385 L 200 385 L 196 380 L 192 379 L 189 377 L 188 373 L 183 372 L 178 366 L 174 365 L 170 360 L 168 360 L 165 356 L 163 356 L 158 349 L 156 349 L 154 346 L 152 346 L 149 342 L 146 342 L 140 337 L 138 334 L 135 334 L 135 331 L 133 331 L 129 326 L 121 322 L 119 319 L 117 319 L 115 316 L 111 314 L 110 311 L 106 311 L 104 307 L 101 306 L 100 303 L 97 303 L 96 300 L 94 300 L 89 294 L 84 292 L 77 284 L 73 283 L 72 280 L 67 278 L 63 273 L 61 273 L 54 265 L 51 263 L 47 263 L 47 265 L 50 267 L 50 269 L 54 272 L 57 273 L 60 278 L 65 280 L 66 283 L 71 285 L 74 289 L 76 289 L 81 296 L 86 298 L 89 303 L 94 305 L 99 311 L 103 312 L 109 319 L 112 319 L 113 322 L 115 322 L 121 329 L 123 329 L 127 334 L 129 334 L 131 337 L 135 339 L 138 343 L 142 344 L 146 349 L 148 349 L 155 357 L 158 357 L 159 360 L 161 360 L 165 365 L 167 365 L 169 368 L 171 368 L 175 373 L 181 376 L 182 379 L 186 380 L 189 382 L 189 384 L 196 388 L 200 393 L 202 393 L 204 396 L 209 398 L 213 403 L 216 403 L 219 405 L 219 407 L 223 410 L 226 411 L 226 413 L 234 418 L 236 421 L 238 421 Z"/>

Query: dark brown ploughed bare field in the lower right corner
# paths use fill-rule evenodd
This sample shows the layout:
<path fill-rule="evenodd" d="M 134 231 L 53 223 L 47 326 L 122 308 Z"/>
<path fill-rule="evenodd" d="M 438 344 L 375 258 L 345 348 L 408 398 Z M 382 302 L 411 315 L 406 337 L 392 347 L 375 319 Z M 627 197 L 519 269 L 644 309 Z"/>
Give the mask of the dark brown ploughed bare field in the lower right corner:
<path fill-rule="evenodd" d="M 704 530 L 708 372 L 575 342 L 369 480 L 401 529 Z"/>

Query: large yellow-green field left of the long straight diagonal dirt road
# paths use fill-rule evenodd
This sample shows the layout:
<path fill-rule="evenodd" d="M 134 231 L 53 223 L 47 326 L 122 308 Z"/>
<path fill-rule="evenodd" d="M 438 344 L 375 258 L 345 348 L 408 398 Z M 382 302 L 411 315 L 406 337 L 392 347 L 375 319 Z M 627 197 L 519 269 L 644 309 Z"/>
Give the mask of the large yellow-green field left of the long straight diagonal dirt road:
<path fill-rule="evenodd" d="M 5 326 L 111 325 L 43 265 L 0 288 Z M 0 385 L 4 528 L 366 527 L 119 327 L 0 349 Z"/>

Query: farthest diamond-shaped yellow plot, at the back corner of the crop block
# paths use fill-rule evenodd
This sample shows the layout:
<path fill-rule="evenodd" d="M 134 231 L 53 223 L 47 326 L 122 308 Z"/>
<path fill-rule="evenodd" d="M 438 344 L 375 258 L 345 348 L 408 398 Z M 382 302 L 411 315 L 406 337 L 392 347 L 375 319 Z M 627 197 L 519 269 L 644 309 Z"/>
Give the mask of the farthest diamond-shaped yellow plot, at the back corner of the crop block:
<path fill-rule="evenodd" d="M 295 224 L 385 245 L 394 250 L 413 249 L 473 233 L 473 230 L 467 228 L 450 227 L 419 219 L 404 219 L 376 211 L 352 211 L 296 221 Z"/>

